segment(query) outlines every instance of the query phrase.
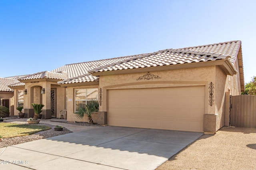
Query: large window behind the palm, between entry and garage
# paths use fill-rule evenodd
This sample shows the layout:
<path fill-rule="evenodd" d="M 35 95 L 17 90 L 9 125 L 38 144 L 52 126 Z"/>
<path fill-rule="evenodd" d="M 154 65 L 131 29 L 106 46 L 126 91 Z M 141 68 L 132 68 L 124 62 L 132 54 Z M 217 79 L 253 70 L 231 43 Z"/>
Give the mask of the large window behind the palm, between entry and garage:
<path fill-rule="evenodd" d="M 92 100 L 98 100 L 98 88 L 75 89 L 75 111 L 79 111 Z"/>

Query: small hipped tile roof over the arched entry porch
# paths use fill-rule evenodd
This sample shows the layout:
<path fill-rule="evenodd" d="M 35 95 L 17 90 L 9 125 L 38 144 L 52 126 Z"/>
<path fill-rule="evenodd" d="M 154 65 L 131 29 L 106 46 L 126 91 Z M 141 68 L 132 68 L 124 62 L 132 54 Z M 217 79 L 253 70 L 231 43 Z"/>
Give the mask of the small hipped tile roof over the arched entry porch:
<path fill-rule="evenodd" d="M 66 72 L 52 72 L 52 71 L 43 71 L 35 74 L 30 74 L 28 76 L 23 76 L 18 78 L 18 80 L 31 80 L 38 78 L 52 78 L 52 79 L 60 79 L 64 80 L 67 78 Z"/>

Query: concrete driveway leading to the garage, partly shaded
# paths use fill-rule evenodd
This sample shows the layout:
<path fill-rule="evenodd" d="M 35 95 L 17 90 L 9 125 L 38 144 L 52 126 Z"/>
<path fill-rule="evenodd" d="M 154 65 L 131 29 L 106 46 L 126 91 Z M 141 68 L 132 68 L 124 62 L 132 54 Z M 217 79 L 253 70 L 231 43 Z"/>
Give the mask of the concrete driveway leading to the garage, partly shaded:
<path fill-rule="evenodd" d="M 202 135 L 158 129 L 86 127 L 84 131 L 1 148 L 1 169 L 154 170 Z"/>

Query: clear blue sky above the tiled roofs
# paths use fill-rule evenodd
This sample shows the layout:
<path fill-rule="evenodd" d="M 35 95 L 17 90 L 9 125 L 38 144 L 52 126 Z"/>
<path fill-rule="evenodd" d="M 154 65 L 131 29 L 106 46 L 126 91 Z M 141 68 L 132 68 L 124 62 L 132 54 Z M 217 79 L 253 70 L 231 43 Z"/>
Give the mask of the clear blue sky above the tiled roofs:
<path fill-rule="evenodd" d="M 256 76 L 255 0 L 0 0 L 0 77 L 241 40 Z"/>

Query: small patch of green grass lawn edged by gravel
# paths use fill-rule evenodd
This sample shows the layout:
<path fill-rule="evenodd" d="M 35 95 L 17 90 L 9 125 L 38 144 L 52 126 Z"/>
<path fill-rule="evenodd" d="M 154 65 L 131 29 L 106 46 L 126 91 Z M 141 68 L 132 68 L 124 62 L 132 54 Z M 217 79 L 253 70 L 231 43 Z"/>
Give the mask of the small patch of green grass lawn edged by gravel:
<path fill-rule="evenodd" d="M 19 125 L 14 123 L 0 123 L 0 135 L 3 138 L 20 137 L 26 135 L 32 135 L 40 131 L 46 131 L 52 129 L 49 126 L 44 125 Z"/>

